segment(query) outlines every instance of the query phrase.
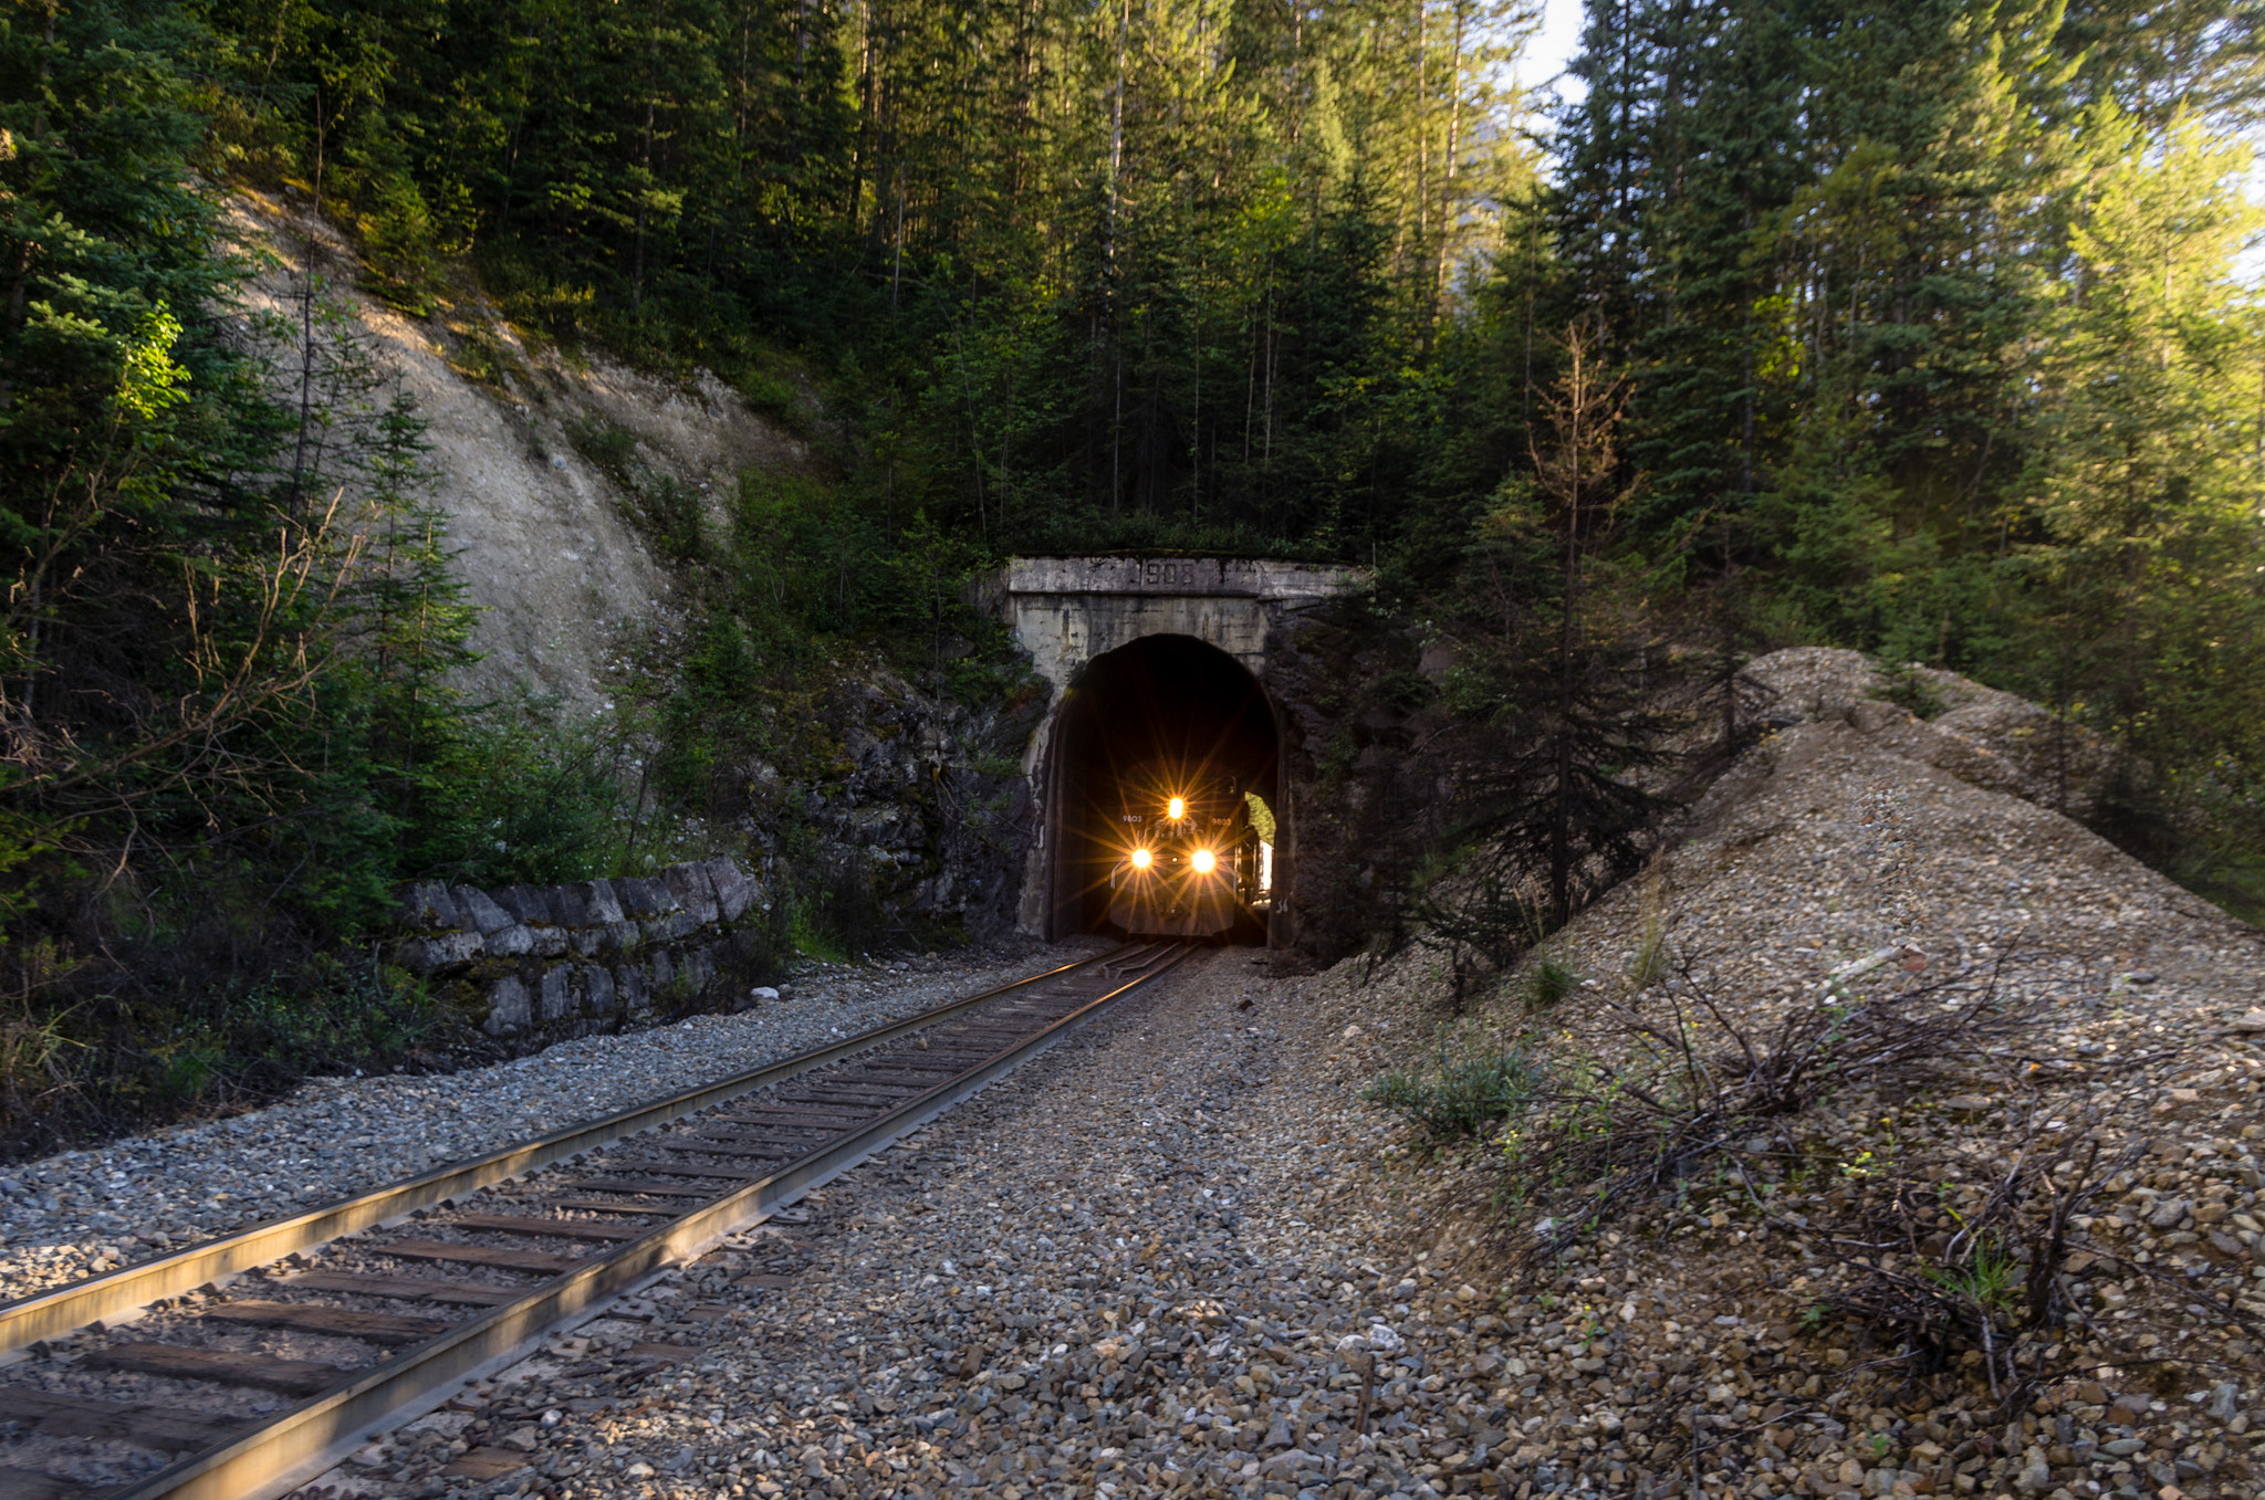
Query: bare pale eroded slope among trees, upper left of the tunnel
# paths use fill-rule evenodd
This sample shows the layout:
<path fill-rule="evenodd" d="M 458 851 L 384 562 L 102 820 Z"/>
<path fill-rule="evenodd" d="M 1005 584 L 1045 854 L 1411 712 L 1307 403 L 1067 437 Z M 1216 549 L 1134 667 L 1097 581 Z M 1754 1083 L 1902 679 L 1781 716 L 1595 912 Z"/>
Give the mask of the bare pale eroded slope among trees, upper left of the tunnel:
<path fill-rule="evenodd" d="M 358 290 L 353 249 L 304 206 L 240 192 L 245 303 L 263 337 L 304 328 L 306 276 L 430 423 L 433 493 L 480 606 L 469 686 L 605 710 L 627 627 L 670 618 L 670 577 L 639 525 L 632 477 L 698 495 L 711 523 L 747 468 L 793 471 L 809 448 L 709 373 L 666 382 L 598 355 L 530 346 L 476 294 L 410 319 Z M 322 312 L 317 310 L 317 319 Z M 288 348 L 285 373 L 297 369 Z M 319 378 L 319 376 L 317 376 Z"/>

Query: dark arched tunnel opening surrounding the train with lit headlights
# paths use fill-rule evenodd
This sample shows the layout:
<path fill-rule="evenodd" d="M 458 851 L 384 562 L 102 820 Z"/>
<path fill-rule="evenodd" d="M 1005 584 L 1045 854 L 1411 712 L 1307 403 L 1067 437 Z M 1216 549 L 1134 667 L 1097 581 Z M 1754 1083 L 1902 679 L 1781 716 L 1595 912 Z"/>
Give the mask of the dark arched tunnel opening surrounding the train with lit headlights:
<path fill-rule="evenodd" d="M 1277 767 L 1273 706 L 1219 647 L 1194 636 L 1144 636 L 1096 656 L 1065 692 L 1051 738 L 1049 937 L 1139 925 L 1112 898 L 1128 855 L 1126 808 L 1162 801 L 1176 787 L 1216 787 L 1221 805 L 1246 803 L 1248 848 L 1234 882 L 1239 898 L 1232 912 L 1221 907 L 1225 930 L 1205 937 L 1268 941 L 1289 860 Z"/>

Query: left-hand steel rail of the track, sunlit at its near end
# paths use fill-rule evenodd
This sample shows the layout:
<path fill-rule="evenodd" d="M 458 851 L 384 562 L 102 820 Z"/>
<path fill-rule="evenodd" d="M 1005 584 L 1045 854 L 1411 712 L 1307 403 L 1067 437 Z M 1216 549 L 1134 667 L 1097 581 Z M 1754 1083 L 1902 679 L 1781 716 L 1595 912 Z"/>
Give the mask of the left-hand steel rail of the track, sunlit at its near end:
<path fill-rule="evenodd" d="M 260 1265 L 274 1265 L 285 1256 L 297 1256 L 315 1249 L 317 1244 L 328 1244 L 331 1240 L 342 1240 L 365 1229 L 383 1226 L 392 1219 L 417 1213 L 419 1208 L 433 1208 L 451 1197 L 476 1192 L 512 1176 L 535 1172 L 537 1167 L 582 1156 L 584 1152 L 593 1152 L 627 1136 L 639 1136 L 682 1115 L 713 1109 L 716 1104 L 725 1104 L 743 1093 L 784 1084 L 786 1079 L 809 1072 L 811 1068 L 836 1063 L 852 1052 L 863 1052 L 865 1048 L 926 1029 L 938 1020 L 956 1016 L 974 1005 L 983 1005 L 985 1000 L 997 1000 L 999 995 L 1017 989 L 1058 980 L 1065 973 L 1074 973 L 1092 964 L 1108 966 L 1123 952 L 1126 948 L 1117 948 L 1089 959 L 1078 959 L 1076 964 L 1062 964 L 1058 968 L 1049 968 L 1046 973 L 1035 973 L 1026 980 L 988 989 L 981 995 L 949 1000 L 915 1016 L 906 1016 L 904 1020 L 890 1020 L 867 1032 L 845 1036 L 838 1043 L 829 1043 L 811 1052 L 797 1052 L 795 1057 L 777 1063 L 766 1063 L 716 1084 L 670 1095 L 655 1104 L 639 1104 L 636 1109 L 625 1109 L 616 1115 L 605 1115 L 602 1120 L 569 1124 L 550 1131 L 548 1136 L 539 1136 L 487 1156 L 471 1156 L 430 1167 L 419 1176 L 387 1183 L 385 1188 L 371 1188 L 369 1192 L 326 1208 L 310 1208 L 308 1213 L 292 1215 L 288 1219 L 270 1219 L 265 1224 L 238 1229 L 220 1235 L 217 1240 L 206 1240 L 204 1244 L 190 1244 L 188 1249 L 159 1256 L 156 1260 L 143 1260 L 116 1271 L 104 1271 L 102 1276 L 93 1276 L 88 1281 L 75 1281 L 48 1292 L 20 1296 L 0 1305 L 0 1351 L 18 1351 L 39 1339 L 54 1339 L 86 1328 L 93 1321 L 116 1321 L 125 1314 L 140 1312 L 159 1299 L 195 1292 L 197 1287 L 220 1281 L 222 1276 L 236 1276 Z"/>

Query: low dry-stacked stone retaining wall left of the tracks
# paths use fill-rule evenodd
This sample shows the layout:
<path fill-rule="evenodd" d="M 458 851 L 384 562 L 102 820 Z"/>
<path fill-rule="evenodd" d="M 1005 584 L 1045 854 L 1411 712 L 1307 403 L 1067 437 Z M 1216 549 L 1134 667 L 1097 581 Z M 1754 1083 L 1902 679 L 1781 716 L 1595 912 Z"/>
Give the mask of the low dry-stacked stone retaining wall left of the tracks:
<path fill-rule="evenodd" d="M 419 882 L 401 898 L 394 962 L 498 1038 L 736 1009 L 770 950 L 770 896 L 727 857 L 501 891 Z"/>

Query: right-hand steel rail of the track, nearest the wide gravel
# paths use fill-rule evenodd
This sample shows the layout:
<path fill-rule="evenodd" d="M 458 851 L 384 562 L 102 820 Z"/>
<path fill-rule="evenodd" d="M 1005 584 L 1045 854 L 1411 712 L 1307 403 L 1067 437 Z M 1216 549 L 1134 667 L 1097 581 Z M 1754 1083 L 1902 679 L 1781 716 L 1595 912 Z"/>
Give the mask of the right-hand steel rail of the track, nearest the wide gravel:
<path fill-rule="evenodd" d="M 272 1500 L 290 1493 L 342 1462 L 367 1434 L 430 1410 L 467 1380 L 519 1362 L 559 1324 L 591 1312 L 670 1265 L 698 1258 L 727 1235 L 759 1224 L 775 1208 L 784 1208 L 811 1188 L 840 1176 L 874 1152 L 935 1120 L 960 1100 L 1058 1043 L 1103 1007 L 1171 973 L 1187 955 L 1187 946 L 1157 955 L 1160 962 L 1153 962 L 1148 973 L 1087 1000 L 974 1068 L 906 1100 L 863 1129 L 838 1136 L 770 1176 L 661 1224 L 641 1240 L 591 1256 L 584 1265 L 532 1287 L 519 1301 L 435 1335 L 360 1378 L 281 1412 L 256 1432 L 190 1455 L 138 1484 L 111 1491 L 109 1500 Z"/>

